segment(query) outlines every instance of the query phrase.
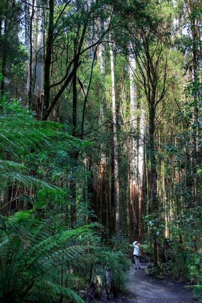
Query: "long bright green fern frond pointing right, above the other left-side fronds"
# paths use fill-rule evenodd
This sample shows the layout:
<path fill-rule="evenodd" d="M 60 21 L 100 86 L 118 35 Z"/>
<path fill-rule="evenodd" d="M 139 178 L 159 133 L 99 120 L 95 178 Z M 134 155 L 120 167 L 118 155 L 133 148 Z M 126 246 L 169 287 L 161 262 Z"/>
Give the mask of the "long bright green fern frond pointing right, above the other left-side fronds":
<path fill-rule="evenodd" d="M 38 151 L 46 145 L 47 150 L 80 148 L 86 144 L 65 132 L 65 127 L 56 122 L 36 121 L 32 117 L 0 117 L 0 148 L 15 155 L 22 148 Z"/>

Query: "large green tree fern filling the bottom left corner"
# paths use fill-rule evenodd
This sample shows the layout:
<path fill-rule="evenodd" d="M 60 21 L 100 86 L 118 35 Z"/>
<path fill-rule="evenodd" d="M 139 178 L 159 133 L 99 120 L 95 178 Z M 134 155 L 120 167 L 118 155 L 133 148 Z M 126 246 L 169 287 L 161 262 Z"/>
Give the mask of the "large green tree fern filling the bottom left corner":
<path fill-rule="evenodd" d="M 31 212 L 18 212 L 10 219 L 1 217 L 1 303 L 25 302 L 31 297 L 34 300 L 37 283 L 48 289 L 54 298 L 62 295 L 72 302 L 83 302 L 72 290 L 54 283 L 51 278 L 60 265 L 70 266 L 71 261 L 76 260 L 79 266 L 91 254 L 95 254 L 93 249 L 84 244 L 71 246 L 73 239 L 78 239 L 82 232 L 91 233 L 91 228 L 85 226 L 63 230 L 56 228 L 59 224 L 59 217 L 40 221 Z"/>

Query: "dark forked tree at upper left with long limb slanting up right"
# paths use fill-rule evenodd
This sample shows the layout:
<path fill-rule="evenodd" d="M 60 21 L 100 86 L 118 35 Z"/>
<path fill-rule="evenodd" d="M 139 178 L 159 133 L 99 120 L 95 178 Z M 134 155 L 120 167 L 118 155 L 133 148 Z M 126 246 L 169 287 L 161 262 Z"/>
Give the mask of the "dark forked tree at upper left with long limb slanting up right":
<path fill-rule="evenodd" d="M 69 7 L 69 11 L 67 11 L 67 7 Z M 80 57 L 86 51 L 94 47 L 95 45 L 99 45 L 105 36 L 106 32 L 109 31 L 111 24 L 109 23 L 108 27 L 104 29 L 102 32 L 97 33 L 96 40 L 93 41 L 92 45 L 85 45 L 86 33 L 89 27 L 91 27 L 92 20 L 98 18 L 100 14 L 100 8 L 102 9 L 102 5 L 97 2 L 88 3 L 83 6 L 81 2 L 71 2 L 68 1 L 63 4 L 60 14 L 54 20 L 54 0 L 49 1 L 49 22 L 48 22 L 48 33 L 47 33 L 47 43 L 46 43 L 46 58 L 45 58 L 45 79 L 44 79 L 44 110 L 43 110 L 43 120 L 47 120 L 50 112 L 53 107 L 56 105 L 57 101 L 61 97 L 63 91 L 68 87 L 70 82 L 73 79 L 73 76 L 76 74 L 78 67 L 81 65 L 82 61 Z M 83 14 L 83 10 L 85 14 Z M 75 18 L 75 14 L 77 18 Z M 63 18 L 65 15 L 68 15 L 69 18 Z M 64 22 L 63 22 L 64 21 Z M 53 44 L 57 37 L 60 36 L 61 27 L 65 26 L 66 29 L 66 37 L 63 40 L 66 54 L 65 61 L 65 70 L 64 75 L 58 81 L 54 81 L 50 79 L 50 68 L 54 65 L 54 62 L 57 62 L 57 57 L 53 59 Z M 76 45 L 76 52 L 74 52 L 74 56 L 71 56 L 72 49 L 71 44 L 69 44 L 70 40 L 73 39 L 74 45 Z M 67 41 L 67 42 L 66 42 Z M 60 52 L 59 52 L 60 53 Z M 60 55 L 59 55 L 60 56 Z M 59 89 L 55 92 L 54 98 L 50 101 L 50 90 L 53 88 Z"/>

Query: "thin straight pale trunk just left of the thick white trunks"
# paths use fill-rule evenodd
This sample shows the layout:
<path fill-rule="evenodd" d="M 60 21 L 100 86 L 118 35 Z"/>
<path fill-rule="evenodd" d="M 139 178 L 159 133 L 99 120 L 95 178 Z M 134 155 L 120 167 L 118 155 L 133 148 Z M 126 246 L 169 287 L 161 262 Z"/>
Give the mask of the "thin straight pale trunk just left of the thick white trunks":
<path fill-rule="evenodd" d="M 109 34 L 109 41 L 111 37 Z M 111 67 L 111 94 L 112 94 L 112 123 L 113 123 L 113 145 L 114 145 L 114 187 L 116 204 L 116 236 L 120 237 L 120 195 L 119 195 L 119 165 L 118 165 L 118 140 L 116 130 L 116 98 L 114 82 L 114 57 L 112 44 L 109 42 L 110 67 Z"/>

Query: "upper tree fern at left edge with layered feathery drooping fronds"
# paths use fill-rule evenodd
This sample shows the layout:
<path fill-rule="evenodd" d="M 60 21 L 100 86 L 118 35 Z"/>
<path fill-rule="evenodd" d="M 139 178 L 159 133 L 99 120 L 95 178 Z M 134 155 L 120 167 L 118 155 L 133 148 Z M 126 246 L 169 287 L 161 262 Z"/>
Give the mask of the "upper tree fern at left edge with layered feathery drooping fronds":
<path fill-rule="evenodd" d="M 60 123 L 36 121 L 33 113 L 15 100 L 0 100 L 0 106 L 1 190 L 13 184 L 57 189 L 30 173 L 36 156 L 46 150 L 51 157 L 57 151 L 80 148 L 85 143 L 70 136 Z"/>

